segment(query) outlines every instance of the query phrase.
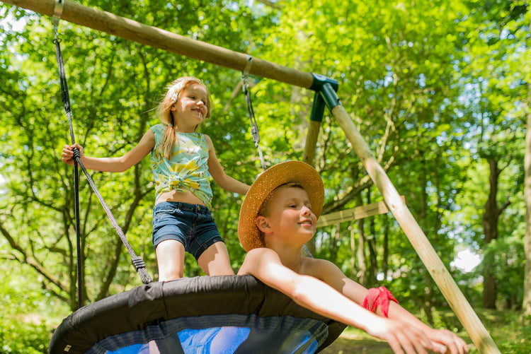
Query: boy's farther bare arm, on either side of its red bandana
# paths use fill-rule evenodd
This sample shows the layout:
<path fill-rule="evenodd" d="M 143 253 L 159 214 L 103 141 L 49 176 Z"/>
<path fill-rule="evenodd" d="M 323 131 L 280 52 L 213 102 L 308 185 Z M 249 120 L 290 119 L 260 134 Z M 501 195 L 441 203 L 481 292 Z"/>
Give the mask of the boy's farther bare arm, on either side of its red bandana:
<path fill-rule="evenodd" d="M 322 259 L 316 260 L 318 266 L 314 266 L 319 272 L 319 278 L 325 283 L 329 283 L 334 289 L 348 297 L 350 300 L 362 304 L 369 290 L 362 285 L 348 278 L 335 264 Z M 382 316 L 382 311 L 377 308 L 377 314 Z M 451 331 L 433 329 L 420 319 L 416 318 L 408 310 L 401 307 L 396 302 L 389 301 L 389 319 L 406 322 L 417 329 L 423 331 L 428 338 L 437 343 L 441 343 L 450 349 L 450 353 L 467 353 L 467 343 Z"/>

